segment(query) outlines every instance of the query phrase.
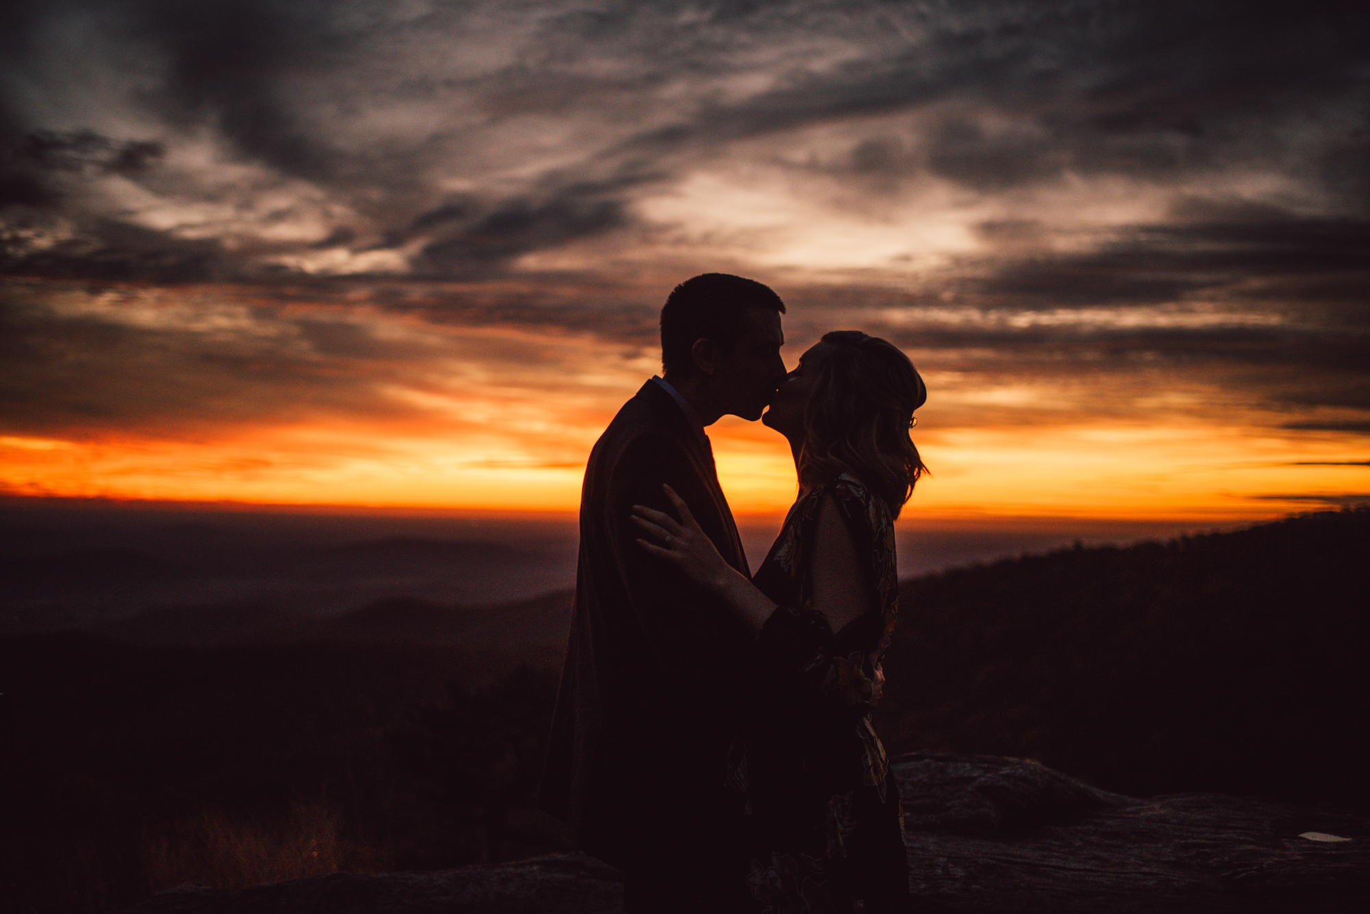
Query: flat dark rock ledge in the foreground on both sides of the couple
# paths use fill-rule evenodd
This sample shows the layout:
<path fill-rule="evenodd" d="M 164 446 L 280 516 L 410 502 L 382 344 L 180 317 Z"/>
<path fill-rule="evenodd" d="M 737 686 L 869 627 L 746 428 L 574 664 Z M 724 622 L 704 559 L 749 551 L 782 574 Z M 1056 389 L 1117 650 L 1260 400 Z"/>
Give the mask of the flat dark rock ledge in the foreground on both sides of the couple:
<path fill-rule="evenodd" d="M 1333 914 L 1370 910 L 1370 821 L 1184 794 L 1133 799 L 1037 762 L 895 762 L 922 911 Z M 330 873 L 238 893 L 163 892 L 129 914 L 599 914 L 622 880 L 570 854 L 436 873 Z"/>

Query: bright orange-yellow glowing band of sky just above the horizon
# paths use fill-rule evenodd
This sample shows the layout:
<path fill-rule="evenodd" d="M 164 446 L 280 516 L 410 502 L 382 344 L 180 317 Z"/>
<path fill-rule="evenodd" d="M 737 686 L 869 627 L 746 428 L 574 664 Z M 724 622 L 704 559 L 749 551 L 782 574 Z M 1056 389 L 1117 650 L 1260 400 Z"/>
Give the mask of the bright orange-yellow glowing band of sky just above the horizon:
<path fill-rule="evenodd" d="M 448 438 L 364 427 L 299 427 L 225 441 L 0 438 L 10 495 L 415 510 L 574 512 L 585 456 L 608 415 L 581 415 L 558 458 L 536 435 Z M 595 424 L 590 424 L 590 423 Z M 525 430 L 526 431 L 526 430 Z M 795 498 L 788 445 L 759 423 L 710 428 L 738 516 Z M 564 454 L 578 445 L 580 460 Z M 1260 430 L 1077 424 L 962 428 L 919 441 L 932 475 L 906 519 L 1080 519 L 1240 523 L 1370 491 L 1355 439 L 1310 449 Z"/>

